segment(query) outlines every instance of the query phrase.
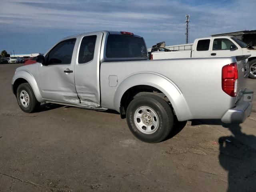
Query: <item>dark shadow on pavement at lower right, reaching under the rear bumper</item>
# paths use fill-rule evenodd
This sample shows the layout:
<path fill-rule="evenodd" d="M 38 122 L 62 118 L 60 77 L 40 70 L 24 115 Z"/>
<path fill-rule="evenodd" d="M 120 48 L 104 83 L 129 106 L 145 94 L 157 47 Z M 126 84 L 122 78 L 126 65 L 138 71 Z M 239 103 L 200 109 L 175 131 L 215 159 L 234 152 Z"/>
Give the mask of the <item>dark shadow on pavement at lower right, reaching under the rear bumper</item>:
<path fill-rule="evenodd" d="M 219 143 L 219 162 L 228 171 L 227 192 L 255 192 L 256 191 L 256 150 L 240 142 L 243 138 L 247 142 L 255 142 L 254 135 L 241 132 L 240 124 L 223 124 L 220 120 L 195 120 L 195 124 L 222 125 L 232 133 L 223 136 Z"/>

